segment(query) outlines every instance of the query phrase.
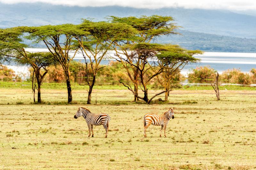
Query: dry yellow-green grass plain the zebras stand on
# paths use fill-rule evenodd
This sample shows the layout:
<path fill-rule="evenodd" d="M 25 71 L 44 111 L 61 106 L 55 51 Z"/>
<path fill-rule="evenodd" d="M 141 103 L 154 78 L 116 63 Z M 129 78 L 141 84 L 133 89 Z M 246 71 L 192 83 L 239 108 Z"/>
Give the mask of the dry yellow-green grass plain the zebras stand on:
<path fill-rule="evenodd" d="M 149 94 L 155 94 L 150 90 Z M 254 169 L 256 168 L 256 91 L 174 90 L 169 103 L 132 102 L 125 89 L 87 91 L 42 89 L 33 104 L 30 89 L 0 88 L 0 169 Z M 97 104 L 96 103 L 97 94 Z M 160 96 L 163 98 L 163 95 Z M 78 107 L 111 116 L 108 138 L 94 127 L 87 137 Z M 174 107 L 167 137 L 151 125 L 143 137 L 143 116 Z"/>

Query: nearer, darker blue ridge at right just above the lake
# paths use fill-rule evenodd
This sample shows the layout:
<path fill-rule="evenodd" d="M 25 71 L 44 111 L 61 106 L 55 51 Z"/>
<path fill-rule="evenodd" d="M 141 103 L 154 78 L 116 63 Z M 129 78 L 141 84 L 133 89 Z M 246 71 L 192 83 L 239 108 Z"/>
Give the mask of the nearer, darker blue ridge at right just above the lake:
<path fill-rule="evenodd" d="M 211 52 L 256 52 L 256 39 L 237 38 L 223 35 L 179 31 L 182 35 L 164 36 L 161 43 L 173 43 L 189 50 Z"/>

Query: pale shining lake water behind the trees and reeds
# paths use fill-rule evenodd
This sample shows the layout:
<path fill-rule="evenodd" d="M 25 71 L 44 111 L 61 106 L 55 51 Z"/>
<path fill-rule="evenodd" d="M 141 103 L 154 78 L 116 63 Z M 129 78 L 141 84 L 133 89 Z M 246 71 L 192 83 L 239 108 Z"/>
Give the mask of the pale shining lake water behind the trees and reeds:
<path fill-rule="evenodd" d="M 29 52 L 48 51 L 48 49 L 26 49 Z M 113 52 L 109 52 L 109 56 L 114 56 Z M 181 71 L 182 74 L 187 73 L 198 66 L 210 66 L 222 73 L 224 70 L 237 68 L 244 73 L 249 73 L 252 68 L 256 68 L 256 53 L 231 53 L 231 52 L 205 52 L 203 55 L 195 55 L 194 57 L 201 59 L 199 63 L 188 64 Z M 76 61 L 84 63 L 84 58 L 81 54 L 77 54 L 74 58 Z M 114 59 L 113 59 L 114 60 Z M 108 65 L 111 60 L 102 60 L 102 65 Z M 11 66 L 16 73 L 22 72 L 28 74 L 28 68 L 25 66 Z"/>

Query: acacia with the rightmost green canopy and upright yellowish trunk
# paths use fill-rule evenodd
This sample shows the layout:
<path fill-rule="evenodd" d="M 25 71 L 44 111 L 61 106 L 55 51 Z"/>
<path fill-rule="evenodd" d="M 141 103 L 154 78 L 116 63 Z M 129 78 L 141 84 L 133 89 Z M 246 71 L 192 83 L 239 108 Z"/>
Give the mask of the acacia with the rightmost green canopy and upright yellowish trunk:
<path fill-rule="evenodd" d="M 168 51 L 161 51 L 156 55 L 159 59 L 159 66 L 163 68 L 163 73 L 157 75 L 157 80 L 166 91 L 164 101 L 168 100 L 169 92 L 172 91 L 171 82 L 173 76 L 180 73 L 180 70 L 188 63 L 198 62 L 199 59 L 194 58 L 193 55 L 202 53 L 200 50 L 185 50 L 178 45 L 169 45 Z"/>

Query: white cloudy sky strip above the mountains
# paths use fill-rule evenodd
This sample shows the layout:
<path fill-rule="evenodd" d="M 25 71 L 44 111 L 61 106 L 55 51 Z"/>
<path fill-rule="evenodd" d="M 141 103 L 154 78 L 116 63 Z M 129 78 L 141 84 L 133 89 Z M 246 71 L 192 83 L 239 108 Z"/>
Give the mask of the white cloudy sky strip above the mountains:
<path fill-rule="evenodd" d="M 164 7 L 181 7 L 187 9 L 220 9 L 231 11 L 256 10 L 256 0 L 0 0 L 4 4 L 48 3 L 68 6 L 123 6 L 133 8 L 158 9 Z"/>

